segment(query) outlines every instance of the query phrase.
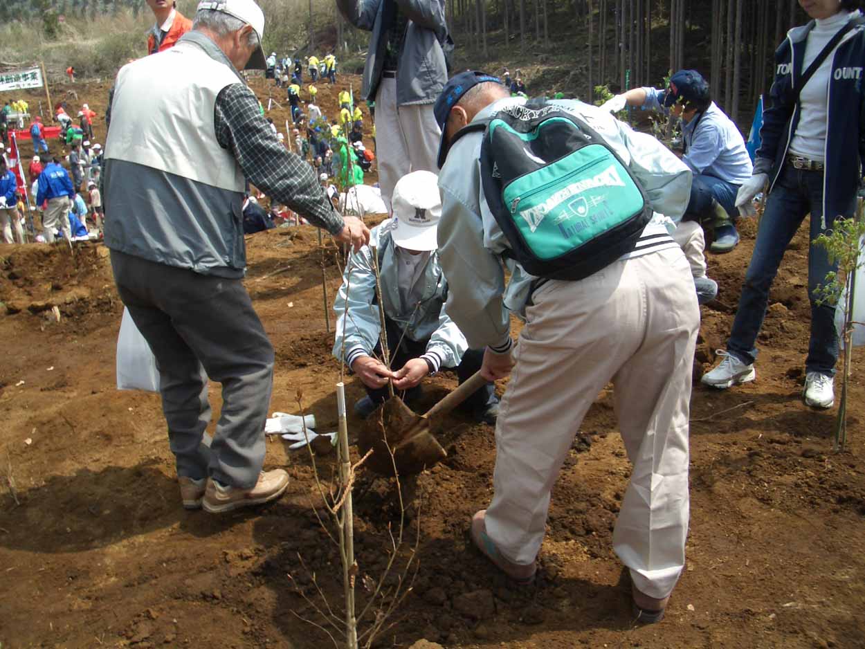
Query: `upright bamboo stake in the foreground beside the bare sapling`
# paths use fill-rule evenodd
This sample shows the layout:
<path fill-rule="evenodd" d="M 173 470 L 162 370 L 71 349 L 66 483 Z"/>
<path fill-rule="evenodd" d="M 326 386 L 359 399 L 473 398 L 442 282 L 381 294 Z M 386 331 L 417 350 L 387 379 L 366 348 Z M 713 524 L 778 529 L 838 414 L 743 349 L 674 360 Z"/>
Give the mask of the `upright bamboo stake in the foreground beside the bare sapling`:
<path fill-rule="evenodd" d="M 351 458 L 349 457 L 349 427 L 345 414 L 345 384 L 336 383 L 336 408 L 339 414 L 339 479 L 345 493 L 343 529 L 340 545 L 343 553 L 343 588 L 345 589 L 345 641 L 348 649 L 357 649 L 357 620 L 355 617 L 355 529 L 354 504 L 351 498 Z"/>

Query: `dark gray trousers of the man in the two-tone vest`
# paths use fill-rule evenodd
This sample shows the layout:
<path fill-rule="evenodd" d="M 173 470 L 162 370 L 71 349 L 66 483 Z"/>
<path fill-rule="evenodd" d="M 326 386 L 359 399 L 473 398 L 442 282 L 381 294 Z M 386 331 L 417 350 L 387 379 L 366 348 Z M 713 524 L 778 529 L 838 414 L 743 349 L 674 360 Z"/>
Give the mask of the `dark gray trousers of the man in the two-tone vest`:
<path fill-rule="evenodd" d="M 265 459 L 273 348 L 241 280 L 111 252 L 120 299 L 157 359 L 177 475 L 247 489 Z M 214 439 L 208 376 L 222 384 Z"/>

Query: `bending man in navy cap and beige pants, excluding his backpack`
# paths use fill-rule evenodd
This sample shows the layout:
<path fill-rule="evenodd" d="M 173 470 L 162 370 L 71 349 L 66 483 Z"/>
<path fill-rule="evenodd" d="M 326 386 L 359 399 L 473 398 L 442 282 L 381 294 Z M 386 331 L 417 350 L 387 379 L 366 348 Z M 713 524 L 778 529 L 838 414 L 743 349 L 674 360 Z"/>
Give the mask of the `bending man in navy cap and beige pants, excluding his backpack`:
<path fill-rule="evenodd" d="M 508 95 L 497 80 L 467 72 L 448 82 L 436 104 L 444 131 L 439 254 L 450 288 L 447 313 L 471 346 L 486 346 L 484 377 L 502 379 L 514 369 L 496 427 L 495 492 L 472 519 L 471 537 L 507 575 L 532 581 L 556 476 L 583 417 L 612 382 L 618 429 L 633 463 L 612 544 L 630 569 L 638 620 L 657 621 L 684 566 L 689 400 L 700 324 L 688 261 L 661 215 L 682 215 L 691 171 L 655 138 L 608 112 L 579 101 L 549 102 L 549 112 L 570 112 L 604 139 L 655 215 L 630 252 L 586 278 L 532 277 L 514 261 L 484 195 L 481 132 L 454 142 L 465 125 L 498 111 L 533 112 Z M 526 154 L 532 156 L 528 148 Z M 567 190 L 565 201 L 579 196 L 599 206 L 586 221 L 621 191 L 603 177 Z M 510 313 L 526 319 L 516 346 Z"/>

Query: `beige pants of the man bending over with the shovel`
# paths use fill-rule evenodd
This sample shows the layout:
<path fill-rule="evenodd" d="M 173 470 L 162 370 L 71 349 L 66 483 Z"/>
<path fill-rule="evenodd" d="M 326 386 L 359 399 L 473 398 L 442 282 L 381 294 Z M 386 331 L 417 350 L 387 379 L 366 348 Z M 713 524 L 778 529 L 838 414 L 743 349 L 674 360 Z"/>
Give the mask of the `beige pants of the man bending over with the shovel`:
<path fill-rule="evenodd" d="M 650 597 L 672 592 L 688 534 L 688 420 L 700 310 L 682 251 L 549 281 L 526 310 L 496 427 L 486 530 L 503 556 L 535 560 L 550 490 L 574 434 L 612 381 L 633 463 L 613 549 Z M 577 469 L 579 471 L 579 467 Z"/>

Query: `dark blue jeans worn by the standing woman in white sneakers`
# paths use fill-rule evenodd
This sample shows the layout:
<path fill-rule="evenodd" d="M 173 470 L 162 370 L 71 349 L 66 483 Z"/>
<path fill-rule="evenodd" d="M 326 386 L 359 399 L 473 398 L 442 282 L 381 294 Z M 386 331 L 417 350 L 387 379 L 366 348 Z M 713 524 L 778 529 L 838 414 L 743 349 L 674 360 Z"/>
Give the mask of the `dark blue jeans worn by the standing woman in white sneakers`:
<path fill-rule="evenodd" d="M 855 209 L 855 196 L 843 218 L 850 218 Z M 823 231 L 823 172 L 794 169 L 785 164 L 766 201 L 766 211 L 759 223 L 757 241 L 751 263 L 745 274 L 745 285 L 739 299 L 739 309 L 733 322 L 733 331 L 727 341 L 727 350 L 743 363 L 753 363 L 757 357 L 754 344 L 766 316 L 769 289 L 778 273 L 785 250 L 793 235 L 811 213 L 811 247 L 808 250 L 808 298 L 811 300 L 811 344 L 805 370 L 835 375 L 838 358 L 838 333 L 835 328 L 835 307 L 817 305 L 814 292 L 826 283 L 826 274 L 837 270 L 831 264 L 825 248 L 813 241 Z M 831 228 L 831 222 L 827 222 Z"/>

